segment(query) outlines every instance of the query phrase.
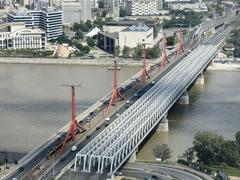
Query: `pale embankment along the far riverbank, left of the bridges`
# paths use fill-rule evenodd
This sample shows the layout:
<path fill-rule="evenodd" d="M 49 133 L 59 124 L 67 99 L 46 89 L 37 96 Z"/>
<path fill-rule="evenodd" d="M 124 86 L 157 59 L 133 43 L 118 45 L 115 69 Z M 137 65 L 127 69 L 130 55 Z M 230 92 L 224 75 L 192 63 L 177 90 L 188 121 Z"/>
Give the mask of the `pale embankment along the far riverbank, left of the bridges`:
<path fill-rule="evenodd" d="M 152 60 L 149 60 L 152 62 Z M 54 58 L 6 58 L 0 57 L 0 63 L 5 64 L 46 64 L 46 65 L 83 65 L 83 66 L 113 66 L 113 58 L 100 59 L 54 59 Z M 142 66 L 142 61 L 119 59 L 123 66 Z"/>

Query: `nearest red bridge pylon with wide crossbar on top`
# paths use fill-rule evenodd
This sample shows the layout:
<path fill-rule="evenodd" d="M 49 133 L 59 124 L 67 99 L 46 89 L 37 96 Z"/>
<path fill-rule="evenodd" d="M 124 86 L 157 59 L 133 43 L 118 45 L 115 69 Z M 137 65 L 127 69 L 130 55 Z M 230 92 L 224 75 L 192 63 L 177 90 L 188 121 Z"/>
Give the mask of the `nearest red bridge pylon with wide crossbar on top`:
<path fill-rule="evenodd" d="M 80 132 L 85 132 L 86 131 L 86 129 L 81 124 L 77 123 L 76 110 L 75 110 L 75 106 L 76 106 L 75 105 L 75 87 L 84 87 L 85 85 L 70 84 L 70 85 L 64 85 L 64 86 L 71 87 L 71 92 L 72 92 L 72 120 L 71 120 L 71 124 L 69 126 L 69 129 L 67 131 L 67 134 L 65 136 L 65 139 L 64 139 L 64 142 L 63 142 L 63 145 L 62 145 L 62 148 L 61 148 L 61 154 L 63 154 L 65 145 L 70 139 L 72 139 L 72 141 L 75 141 L 77 127 L 79 128 Z"/>

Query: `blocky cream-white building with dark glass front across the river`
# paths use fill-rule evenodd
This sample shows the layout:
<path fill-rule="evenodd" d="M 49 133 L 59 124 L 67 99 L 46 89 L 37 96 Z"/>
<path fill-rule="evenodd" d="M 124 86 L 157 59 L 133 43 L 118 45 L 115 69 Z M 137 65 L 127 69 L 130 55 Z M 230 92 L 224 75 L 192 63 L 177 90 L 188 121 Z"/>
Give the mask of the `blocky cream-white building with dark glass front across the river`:
<path fill-rule="evenodd" d="M 98 33 L 98 46 L 114 53 L 118 46 L 120 51 L 124 46 L 135 48 L 146 43 L 146 47 L 154 47 L 162 38 L 162 28 L 157 20 L 108 22 L 103 26 L 103 32 Z"/>

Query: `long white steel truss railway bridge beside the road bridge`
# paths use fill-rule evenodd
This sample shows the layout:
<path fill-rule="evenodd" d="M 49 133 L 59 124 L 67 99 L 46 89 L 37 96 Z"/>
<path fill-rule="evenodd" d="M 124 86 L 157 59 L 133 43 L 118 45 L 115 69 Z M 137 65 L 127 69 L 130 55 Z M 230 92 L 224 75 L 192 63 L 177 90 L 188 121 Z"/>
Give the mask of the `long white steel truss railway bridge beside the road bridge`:
<path fill-rule="evenodd" d="M 202 73 L 216 52 L 217 46 L 197 47 L 79 151 L 74 170 L 113 174 Z"/>

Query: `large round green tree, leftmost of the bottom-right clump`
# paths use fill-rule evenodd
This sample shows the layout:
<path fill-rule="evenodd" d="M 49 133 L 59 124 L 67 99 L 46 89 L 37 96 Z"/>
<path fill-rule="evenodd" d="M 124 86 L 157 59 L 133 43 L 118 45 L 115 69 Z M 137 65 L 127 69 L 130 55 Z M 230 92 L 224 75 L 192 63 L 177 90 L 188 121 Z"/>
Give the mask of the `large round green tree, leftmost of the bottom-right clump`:
<path fill-rule="evenodd" d="M 222 136 L 212 132 L 198 132 L 193 141 L 193 149 L 199 161 L 205 164 L 216 164 L 221 161 Z"/>

